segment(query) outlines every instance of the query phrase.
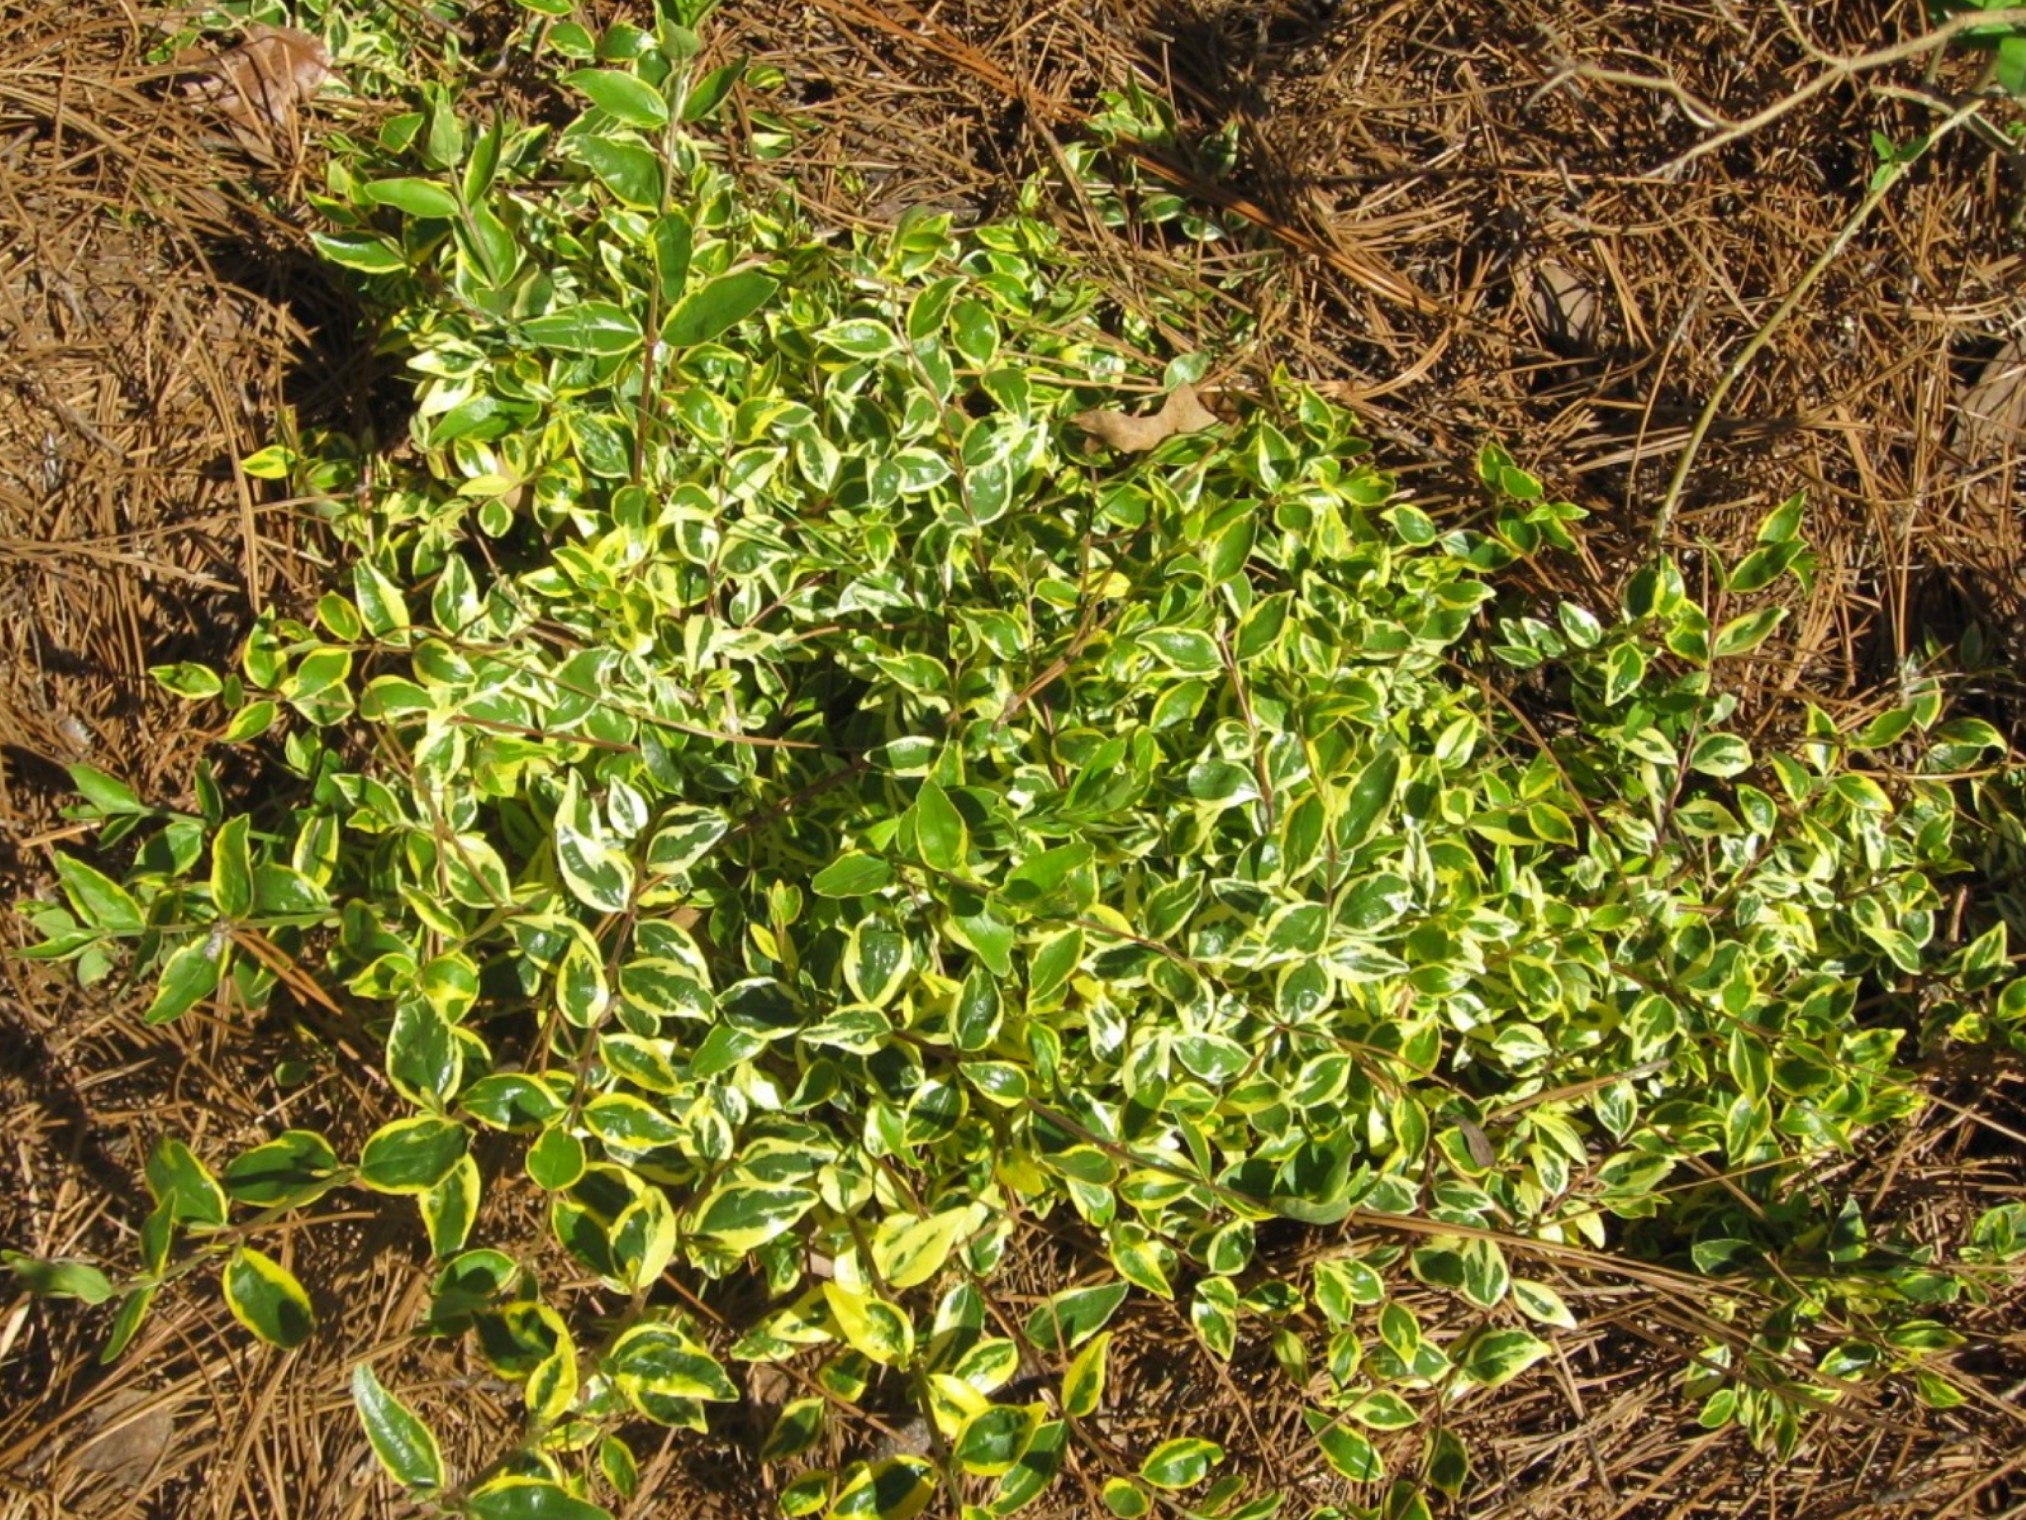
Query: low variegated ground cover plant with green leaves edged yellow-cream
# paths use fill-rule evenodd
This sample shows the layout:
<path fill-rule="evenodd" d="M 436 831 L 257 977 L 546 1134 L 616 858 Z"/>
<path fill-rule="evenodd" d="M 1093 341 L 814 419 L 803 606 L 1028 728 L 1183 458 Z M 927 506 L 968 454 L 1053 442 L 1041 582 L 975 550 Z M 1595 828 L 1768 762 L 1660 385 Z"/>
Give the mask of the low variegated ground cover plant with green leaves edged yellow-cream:
<path fill-rule="evenodd" d="M 760 1364 L 800 1378 L 772 1461 L 859 1404 L 934 1429 L 794 1475 L 792 1514 L 1005 1514 L 1072 1465 L 1116 1514 L 1270 1514 L 1185 1427 L 1094 1431 L 1131 1291 L 1216 1356 L 1270 1340 L 1388 1514 L 1465 1490 L 1447 1411 L 1570 1323 L 1540 1263 L 1700 1281 L 1704 1419 L 1775 1451 L 1866 1378 L 1957 1398 L 1935 1307 L 2016 1214 L 1870 1240 L 1823 1163 L 1913 1113 L 1900 1062 L 2026 1013 L 2004 926 L 1941 912 L 2004 740 L 1931 677 L 1860 730 L 1734 730 L 1805 501 L 1718 618 L 1667 557 L 1617 606 L 1507 596 L 1582 515 L 1503 450 L 1445 529 L 1293 381 L 1191 409 L 1205 359 L 1033 219 L 839 239 L 742 197 L 697 20 L 547 26 L 567 124 L 436 93 L 338 144 L 318 243 L 417 377 L 409 448 L 253 456 L 346 580 L 160 673 L 298 784 L 241 809 L 207 772 L 172 813 L 79 768 L 99 853 L 32 910 L 152 1021 L 284 985 L 363 1017 L 413 1117 L 342 1157 L 164 1139 L 138 1267 L 16 1271 L 118 1297 L 111 1354 L 217 1271 L 286 1348 L 314 1309 L 261 1232 L 413 1198 L 417 1329 L 527 1427 L 454 1473 L 371 1366 L 357 1400 L 395 1479 L 478 1516 L 626 1498 L 628 1433 Z M 567 1279 L 486 1236 L 515 1171 Z M 1051 1214 L 1114 1275 L 1015 1307 L 993 1271 Z M 1289 1248 L 1345 1220 L 1416 1244 Z M 1402 1275 L 1477 1327 L 1422 1334 Z"/>

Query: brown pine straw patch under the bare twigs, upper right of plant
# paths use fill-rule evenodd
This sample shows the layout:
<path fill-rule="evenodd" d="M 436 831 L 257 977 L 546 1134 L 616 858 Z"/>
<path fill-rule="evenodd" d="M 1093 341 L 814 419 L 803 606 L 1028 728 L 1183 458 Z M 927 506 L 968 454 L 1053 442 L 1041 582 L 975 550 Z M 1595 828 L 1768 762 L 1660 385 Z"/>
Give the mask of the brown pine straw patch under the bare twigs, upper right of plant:
<path fill-rule="evenodd" d="M 1481 503 L 1479 446 L 1503 442 L 1594 513 L 1586 563 L 1550 582 L 1609 592 L 1647 549 L 1704 397 L 1862 199 L 1872 132 L 1911 140 L 1943 111 L 1908 95 L 1953 103 L 1975 83 L 1975 55 L 1941 57 L 1933 83 L 1911 57 L 1682 164 L 1718 136 L 1684 95 L 1740 120 L 1825 75 L 1811 49 L 1856 57 L 1925 30 L 1919 0 L 1811 4 L 1805 34 L 1783 10 L 806 0 L 727 20 L 816 128 L 766 172 L 839 223 L 1007 211 L 1058 168 L 1098 89 L 1139 77 L 1177 101 L 1179 146 L 1147 158 L 1291 255 L 1114 233 L 1058 188 L 1051 219 L 1090 265 L 1122 294 L 1246 265 L 1254 375 L 1287 363 L 1329 383 L 1457 513 Z M 1240 162 L 1218 180 L 1189 144 L 1226 130 Z M 1690 572 L 1803 486 L 1823 557 L 1791 636 L 1732 673 L 1750 693 L 1858 697 L 1969 618 L 2006 647 L 2026 636 L 2020 170 L 1969 132 L 1941 144 L 1716 420 L 1669 533 Z M 1212 304 L 1195 336 L 1220 326 Z"/>

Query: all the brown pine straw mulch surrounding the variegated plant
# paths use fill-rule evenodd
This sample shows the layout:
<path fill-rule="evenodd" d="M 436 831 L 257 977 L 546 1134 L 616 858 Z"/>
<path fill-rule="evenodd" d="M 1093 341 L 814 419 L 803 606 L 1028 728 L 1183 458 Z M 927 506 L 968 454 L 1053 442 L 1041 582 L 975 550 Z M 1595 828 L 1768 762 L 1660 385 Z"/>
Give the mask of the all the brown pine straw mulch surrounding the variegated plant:
<path fill-rule="evenodd" d="M 1906 138 L 1935 120 L 1917 95 L 1973 83 L 1975 59 L 1929 75 L 1911 57 L 1651 174 L 1714 134 L 1688 101 L 1740 120 L 1815 79 L 1811 49 L 1854 57 L 1923 26 L 1906 0 L 1811 4 L 1805 39 L 1791 14 L 1730 0 L 733 0 L 713 45 L 776 63 L 782 97 L 742 105 L 784 109 L 800 132 L 788 158 L 762 162 L 735 130 L 739 168 L 796 184 L 839 225 L 910 205 L 1007 211 L 1019 182 L 1060 168 L 1098 89 L 1139 77 L 1175 99 L 1181 146 L 1151 154 L 1149 172 L 1254 223 L 1250 239 L 1106 229 L 1060 174 L 1043 215 L 1120 302 L 1246 272 L 1242 304 L 1205 296 L 1177 347 L 1230 353 L 1234 385 L 1274 363 L 1327 383 L 1447 517 L 1481 509 L 1471 460 L 1505 442 L 1594 513 L 1580 561 L 1528 582 L 1552 596 L 1609 592 L 1645 549 L 1702 399 L 1862 197 L 1870 132 Z M 47 890 L 65 835 L 61 764 L 91 760 L 150 796 L 188 784 L 205 736 L 146 667 L 223 657 L 253 608 L 300 606 L 318 586 L 314 527 L 235 460 L 286 401 L 340 422 L 365 401 L 357 363 L 340 363 L 353 314 L 296 229 L 229 188 L 294 205 L 298 160 L 251 162 L 174 99 L 128 6 L 0 0 L 0 886 L 22 896 Z M 1189 144 L 1226 128 L 1238 170 L 1212 180 Z M 2020 713 L 2020 207 L 2018 160 L 1957 134 L 1852 239 L 1702 448 L 1669 533 L 1698 578 L 1793 488 L 1813 503 L 1823 574 L 1779 592 L 1795 616 L 1732 673 L 1769 719 L 1801 693 L 1872 701 L 1927 636 L 1947 647 L 1971 622 L 1994 653 L 1961 697 Z M 1232 353 L 1234 332 L 1256 336 Z M 158 1133 L 219 1155 L 300 1123 L 342 1147 L 393 1113 L 379 1078 L 346 1062 L 280 1086 L 276 1064 L 310 1044 L 284 1015 L 150 1032 L 120 991 L 0 965 L 8 1246 L 130 1259 Z M 1959 1238 L 2026 1188 L 2016 1076 L 1937 1088 L 1953 1107 L 1836 1177 L 1876 1232 Z M 533 1200 L 494 1194 L 480 1234 L 533 1250 Z M 361 1354 L 417 1396 L 454 1465 L 484 1461 L 484 1431 L 506 1429 L 517 1398 L 462 1348 L 407 1338 L 430 1275 L 419 1228 L 342 1196 L 312 1214 L 263 1240 L 318 1295 L 324 1329 L 294 1356 L 253 1348 L 201 1279 L 164 1293 L 113 1372 L 93 1360 L 105 1311 L 0 1301 L 0 1516 L 401 1514 L 344 1396 Z M 1282 1255 L 1331 1244 L 1303 1236 Z M 1017 1313 L 1098 1271 L 1074 1234 L 1031 1232 L 999 1293 Z M 1465 1514 L 2022 1512 L 2016 1283 L 1951 1311 L 1969 1344 L 1947 1364 L 1971 1402 L 1937 1415 L 1858 1396 L 1775 1463 L 1696 1427 L 1678 1390 L 1708 1303 L 1552 1261 L 1526 1271 L 1562 1285 L 1582 1329 L 1453 1411 L 1477 1461 Z M 1436 1338 L 1469 1329 L 1438 1299 L 1420 1307 Z M 1161 1303 L 1128 1305 L 1120 1332 L 1094 1427 L 1120 1463 L 1185 1417 L 1232 1469 L 1289 1488 L 1291 1514 L 1374 1498 L 1321 1467 L 1262 1346 L 1222 1366 Z M 754 1467 L 760 1421 L 746 1415 L 709 1441 L 644 1439 L 652 1498 L 624 1514 L 758 1512 L 778 1473 Z M 1410 1437 L 1388 1455 L 1408 1465 Z M 1086 1463 L 1037 1512 L 1096 1514 L 1100 1477 Z"/>

